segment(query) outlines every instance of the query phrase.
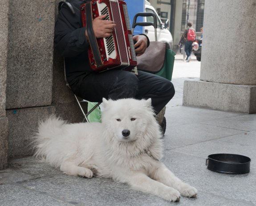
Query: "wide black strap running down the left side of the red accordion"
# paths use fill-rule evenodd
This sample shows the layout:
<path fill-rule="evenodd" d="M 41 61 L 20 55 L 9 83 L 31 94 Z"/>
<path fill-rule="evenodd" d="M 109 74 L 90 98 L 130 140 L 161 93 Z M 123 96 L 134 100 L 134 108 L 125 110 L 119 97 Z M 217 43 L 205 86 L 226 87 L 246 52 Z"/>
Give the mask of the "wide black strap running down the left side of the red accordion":
<path fill-rule="evenodd" d="M 92 17 L 91 2 L 87 2 L 85 4 L 85 17 L 86 17 L 86 31 L 88 34 L 90 46 L 92 48 L 93 57 L 94 57 L 96 66 L 100 67 L 100 66 L 102 66 L 103 63 L 102 63 L 101 54 L 98 49 L 97 40 L 96 40 L 96 37 L 93 32 L 93 17 Z"/>

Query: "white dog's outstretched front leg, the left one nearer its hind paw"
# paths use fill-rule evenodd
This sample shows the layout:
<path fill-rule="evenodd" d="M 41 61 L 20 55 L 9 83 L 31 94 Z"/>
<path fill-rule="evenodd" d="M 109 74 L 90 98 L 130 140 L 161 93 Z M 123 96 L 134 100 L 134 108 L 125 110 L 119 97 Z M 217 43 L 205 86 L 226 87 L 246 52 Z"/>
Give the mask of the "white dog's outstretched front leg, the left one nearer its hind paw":
<path fill-rule="evenodd" d="M 157 182 L 143 173 L 130 174 L 126 178 L 127 183 L 135 190 L 153 194 L 171 202 L 179 202 L 180 193 L 178 190 Z"/>

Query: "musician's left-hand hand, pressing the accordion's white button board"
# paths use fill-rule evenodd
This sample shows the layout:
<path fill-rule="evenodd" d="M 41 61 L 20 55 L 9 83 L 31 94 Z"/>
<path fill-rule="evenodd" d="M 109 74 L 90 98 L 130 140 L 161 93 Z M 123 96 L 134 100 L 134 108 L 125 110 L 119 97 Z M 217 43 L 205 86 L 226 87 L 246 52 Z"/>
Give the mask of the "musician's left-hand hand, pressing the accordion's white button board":
<path fill-rule="evenodd" d="M 106 18 L 106 14 L 102 16 L 98 16 L 93 20 L 93 32 L 96 38 L 109 37 L 112 35 L 116 24 L 114 21 L 104 20 Z"/>

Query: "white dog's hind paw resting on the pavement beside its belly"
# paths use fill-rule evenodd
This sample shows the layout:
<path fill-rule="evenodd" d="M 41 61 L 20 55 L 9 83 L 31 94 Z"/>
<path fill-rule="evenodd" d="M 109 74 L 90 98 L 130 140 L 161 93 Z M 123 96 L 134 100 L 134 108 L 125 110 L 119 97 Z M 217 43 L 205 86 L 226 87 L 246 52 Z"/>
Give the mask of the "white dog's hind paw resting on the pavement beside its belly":
<path fill-rule="evenodd" d="M 81 176 L 81 177 L 86 177 L 86 178 L 92 178 L 93 177 L 93 172 L 85 167 L 77 166 L 73 162 L 70 161 L 63 161 L 61 163 L 61 171 L 64 172 L 65 174 L 70 174 L 74 176 Z"/>

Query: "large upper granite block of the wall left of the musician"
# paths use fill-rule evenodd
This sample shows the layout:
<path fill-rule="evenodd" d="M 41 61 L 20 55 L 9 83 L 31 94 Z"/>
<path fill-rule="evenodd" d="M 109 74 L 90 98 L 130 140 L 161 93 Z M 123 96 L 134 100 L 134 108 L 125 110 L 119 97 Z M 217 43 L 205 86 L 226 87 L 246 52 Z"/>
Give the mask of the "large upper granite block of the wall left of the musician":
<path fill-rule="evenodd" d="M 6 109 L 52 102 L 52 0 L 10 1 Z"/>

